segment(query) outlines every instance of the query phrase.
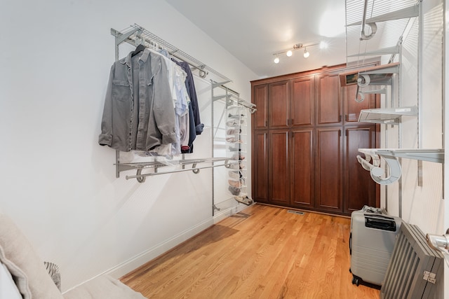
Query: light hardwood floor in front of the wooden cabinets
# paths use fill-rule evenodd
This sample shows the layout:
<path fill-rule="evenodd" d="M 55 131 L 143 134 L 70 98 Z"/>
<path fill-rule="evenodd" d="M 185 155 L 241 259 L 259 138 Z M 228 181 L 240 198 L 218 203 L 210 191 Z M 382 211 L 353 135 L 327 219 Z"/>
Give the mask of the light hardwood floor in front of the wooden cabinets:
<path fill-rule="evenodd" d="M 379 298 L 351 284 L 349 227 L 254 204 L 121 281 L 147 298 Z"/>

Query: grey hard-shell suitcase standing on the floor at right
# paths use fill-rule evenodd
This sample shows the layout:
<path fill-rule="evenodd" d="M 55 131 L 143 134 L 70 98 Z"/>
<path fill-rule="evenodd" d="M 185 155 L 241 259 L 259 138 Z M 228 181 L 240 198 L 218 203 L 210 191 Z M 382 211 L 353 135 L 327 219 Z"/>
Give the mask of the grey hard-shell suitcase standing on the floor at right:
<path fill-rule="evenodd" d="M 389 216 L 383 209 L 365 206 L 352 212 L 349 237 L 352 284 L 382 285 L 401 222 L 401 218 Z"/>

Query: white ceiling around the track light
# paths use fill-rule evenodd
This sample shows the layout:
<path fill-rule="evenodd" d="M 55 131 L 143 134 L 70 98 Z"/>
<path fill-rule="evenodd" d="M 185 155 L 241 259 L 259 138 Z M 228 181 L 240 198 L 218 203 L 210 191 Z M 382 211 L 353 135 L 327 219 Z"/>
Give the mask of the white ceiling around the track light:
<path fill-rule="evenodd" d="M 345 0 L 166 0 L 260 78 L 291 74 L 347 62 Z M 363 1 L 361 1 L 363 2 Z M 275 55 L 293 48 L 292 57 Z"/>

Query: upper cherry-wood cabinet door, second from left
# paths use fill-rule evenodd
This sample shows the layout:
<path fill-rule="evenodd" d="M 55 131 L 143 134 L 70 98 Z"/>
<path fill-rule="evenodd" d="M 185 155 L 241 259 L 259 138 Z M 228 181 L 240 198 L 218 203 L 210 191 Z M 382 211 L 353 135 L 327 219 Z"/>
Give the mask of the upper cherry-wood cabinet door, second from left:
<path fill-rule="evenodd" d="M 269 114 L 270 129 L 286 128 L 289 125 L 290 80 L 269 84 Z"/>

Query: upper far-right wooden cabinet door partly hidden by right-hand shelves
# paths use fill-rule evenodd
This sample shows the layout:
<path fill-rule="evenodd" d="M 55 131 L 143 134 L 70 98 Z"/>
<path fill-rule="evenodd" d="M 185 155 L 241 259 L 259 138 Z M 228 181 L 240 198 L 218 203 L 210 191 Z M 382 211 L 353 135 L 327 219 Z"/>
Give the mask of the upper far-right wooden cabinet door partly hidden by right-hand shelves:
<path fill-rule="evenodd" d="M 366 89 L 364 89 L 366 90 Z M 366 94 L 365 99 L 361 101 L 361 97 L 356 95 L 357 85 L 348 85 L 342 88 L 343 102 L 344 102 L 344 121 L 346 123 L 358 122 L 358 116 L 362 109 L 375 109 L 376 108 L 376 95 Z M 358 101 L 361 102 L 357 102 Z"/>

